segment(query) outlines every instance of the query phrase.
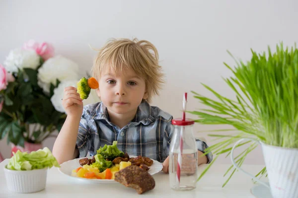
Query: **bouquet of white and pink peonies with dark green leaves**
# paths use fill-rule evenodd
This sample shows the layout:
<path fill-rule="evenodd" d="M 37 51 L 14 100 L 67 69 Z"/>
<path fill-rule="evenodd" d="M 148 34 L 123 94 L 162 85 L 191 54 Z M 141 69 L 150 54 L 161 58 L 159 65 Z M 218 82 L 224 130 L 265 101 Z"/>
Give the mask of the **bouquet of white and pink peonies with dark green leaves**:
<path fill-rule="evenodd" d="M 55 56 L 48 43 L 30 40 L 11 50 L 0 65 L 0 139 L 7 136 L 12 151 L 41 148 L 46 138 L 62 128 L 66 119 L 61 101 L 64 88 L 75 87 L 79 78 L 78 65 Z M 24 149 L 32 143 L 40 146 Z"/>

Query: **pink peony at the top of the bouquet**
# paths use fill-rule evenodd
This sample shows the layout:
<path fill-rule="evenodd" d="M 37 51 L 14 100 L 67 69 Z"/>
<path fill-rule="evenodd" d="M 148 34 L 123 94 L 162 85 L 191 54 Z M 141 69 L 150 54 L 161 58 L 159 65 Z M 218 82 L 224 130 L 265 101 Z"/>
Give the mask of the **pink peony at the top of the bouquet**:
<path fill-rule="evenodd" d="M 33 49 L 38 55 L 40 55 L 44 60 L 47 60 L 54 56 L 54 48 L 51 44 L 43 42 L 42 44 L 37 43 L 34 40 L 29 40 L 24 43 L 23 49 Z"/>

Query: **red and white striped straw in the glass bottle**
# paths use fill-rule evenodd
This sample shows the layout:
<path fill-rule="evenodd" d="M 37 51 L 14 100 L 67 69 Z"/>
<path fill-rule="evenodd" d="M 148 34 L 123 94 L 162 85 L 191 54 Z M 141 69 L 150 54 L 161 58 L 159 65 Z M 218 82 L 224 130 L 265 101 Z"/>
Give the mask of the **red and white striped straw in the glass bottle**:
<path fill-rule="evenodd" d="M 185 121 L 185 111 L 186 111 L 186 102 L 187 102 L 187 93 L 184 93 L 183 95 L 183 113 L 182 113 L 182 121 Z M 183 152 L 183 132 L 184 132 L 184 126 L 181 126 L 180 131 L 180 144 L 179 144 L 179 150 L 178 150 L 178 164 L 177 164 L 177 181 L 178 184 L 180 184 L 180 173 L 181 173 L 181 166 L 182 166 L 182 152 Z"/>

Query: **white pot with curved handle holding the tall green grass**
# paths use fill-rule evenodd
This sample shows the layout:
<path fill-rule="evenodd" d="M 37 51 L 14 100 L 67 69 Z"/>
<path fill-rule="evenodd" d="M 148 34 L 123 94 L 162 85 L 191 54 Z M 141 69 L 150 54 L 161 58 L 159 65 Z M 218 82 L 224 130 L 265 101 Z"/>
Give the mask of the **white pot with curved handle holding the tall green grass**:
<path fill-rule="evenodd" d="M 233 151 L 236 146 L 249 140 L 262 145 L 270 186 L 241 169 L 234 161 Z M 275 147 L 253 139 L 243 138 L 233 146 L 230 156 L 233 165 L 238 170 L 270 188 L 273 198 L 298 198 L 298 148 Z"/>

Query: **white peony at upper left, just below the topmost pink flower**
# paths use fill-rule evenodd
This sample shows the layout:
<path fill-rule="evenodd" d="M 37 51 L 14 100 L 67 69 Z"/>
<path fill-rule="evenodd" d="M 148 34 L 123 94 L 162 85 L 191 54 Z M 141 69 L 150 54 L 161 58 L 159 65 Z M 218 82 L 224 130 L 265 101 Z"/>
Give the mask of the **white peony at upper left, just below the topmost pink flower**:
<path fill-rule="evenodd" d="M 40 64 L 40 56 L 31 49 L 13 49 L 10 50 L 4 66 L 8 72 L 17 72 L 17 68 L 36 69 Z"/>

